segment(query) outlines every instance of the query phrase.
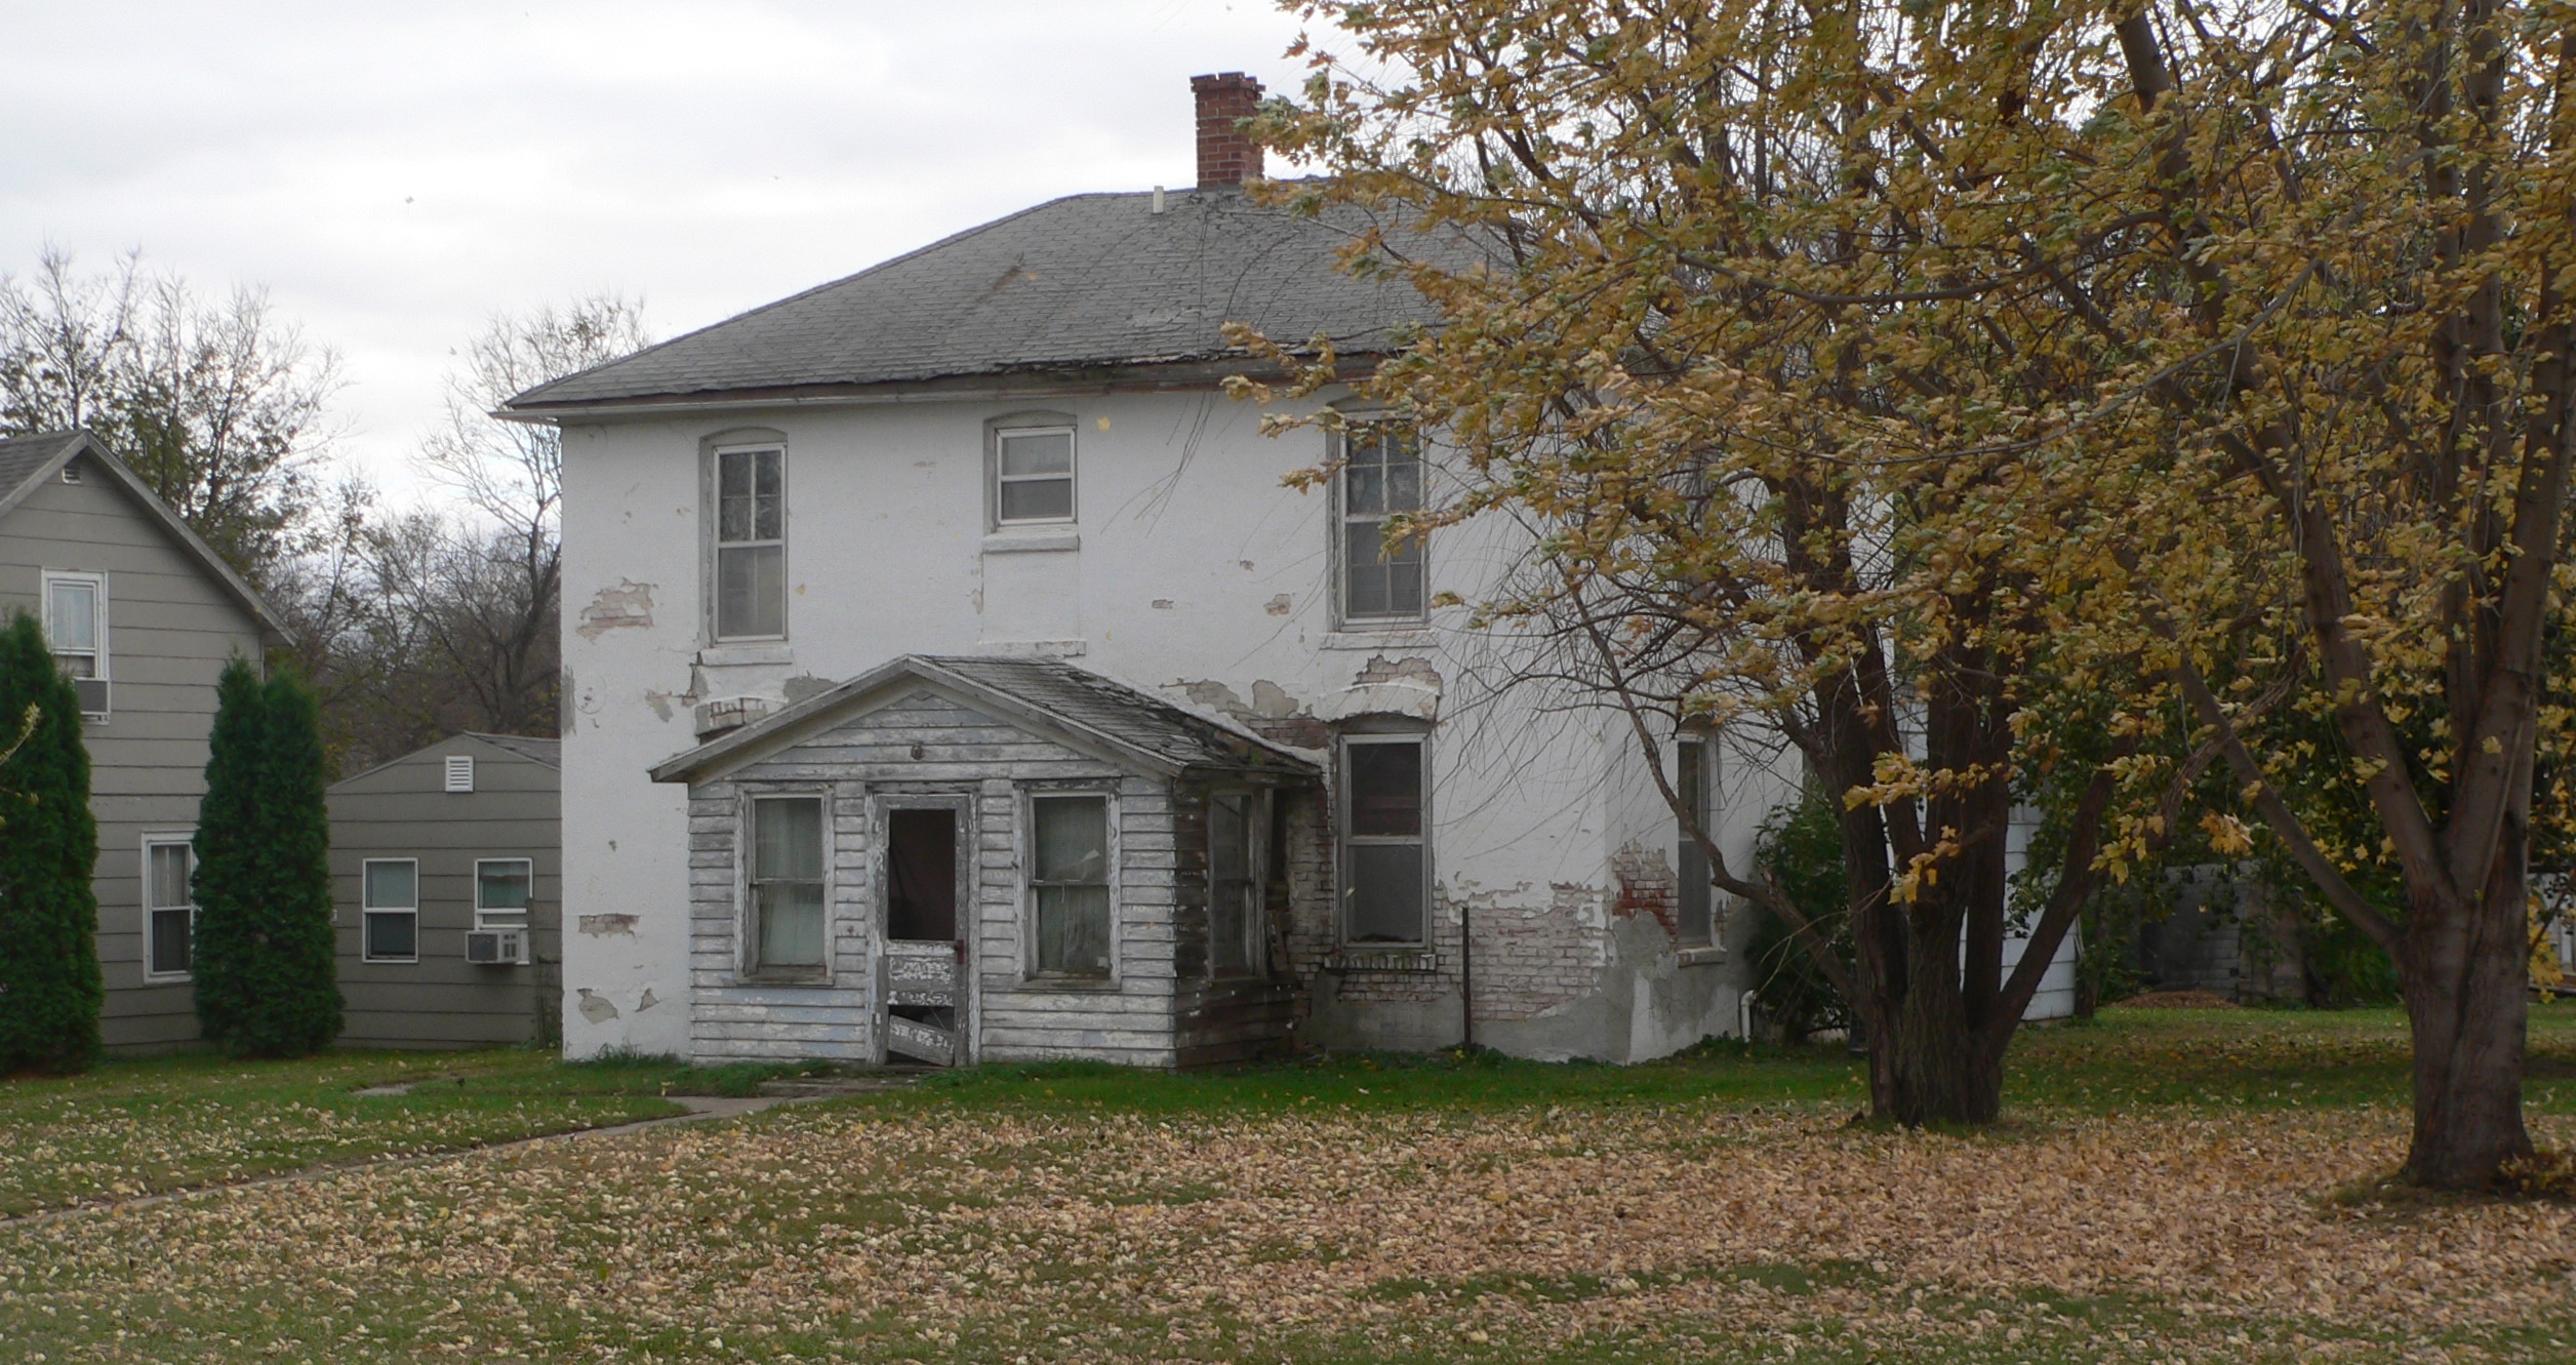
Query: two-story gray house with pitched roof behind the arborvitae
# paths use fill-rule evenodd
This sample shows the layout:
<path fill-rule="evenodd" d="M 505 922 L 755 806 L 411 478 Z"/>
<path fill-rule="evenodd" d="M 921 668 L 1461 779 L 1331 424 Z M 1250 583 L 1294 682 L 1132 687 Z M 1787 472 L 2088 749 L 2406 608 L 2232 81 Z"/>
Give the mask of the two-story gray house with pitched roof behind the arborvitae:
<path fill-rule="evenodd" d="M 260 595 L 90 433 L 0 440 L 0 618 L 44 621 L 80 688 L 98 816 L 100 1033 L 196 1040 L 188 904 L 224 662 L 286 641 Z"/>

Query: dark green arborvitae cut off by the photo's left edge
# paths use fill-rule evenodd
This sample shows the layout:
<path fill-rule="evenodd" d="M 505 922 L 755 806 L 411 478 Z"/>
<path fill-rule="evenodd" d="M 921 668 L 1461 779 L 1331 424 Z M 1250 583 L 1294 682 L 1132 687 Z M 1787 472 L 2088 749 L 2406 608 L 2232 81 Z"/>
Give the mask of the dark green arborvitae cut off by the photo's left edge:
<path fill-rule="evenodd" d="M 44 631 L 0 631 L 0 1071 L 98 1059 L 98 822 L 80 695 Z"/>

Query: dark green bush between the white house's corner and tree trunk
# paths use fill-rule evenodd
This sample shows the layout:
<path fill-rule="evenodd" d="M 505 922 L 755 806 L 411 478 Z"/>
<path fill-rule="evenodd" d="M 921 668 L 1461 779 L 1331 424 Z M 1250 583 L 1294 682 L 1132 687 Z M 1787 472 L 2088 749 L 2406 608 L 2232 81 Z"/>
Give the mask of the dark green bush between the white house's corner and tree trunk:
<path fill-rule="evenodd" d="M 1832 798 L 1806 793 L 1762 822 L 1754 865 L 1770 876 L 1808 925 L 1826 932 L 1834 956 L 1852 963 L 1852 917 L 1842 873 L 1842 824 Z M 1790 1040 L 1826 1028 L 1852 1028 L 1852 1004 L 1798 943 L 1788 919 L 1757 909 L 1749 945 L 1754 1010 Z"/>

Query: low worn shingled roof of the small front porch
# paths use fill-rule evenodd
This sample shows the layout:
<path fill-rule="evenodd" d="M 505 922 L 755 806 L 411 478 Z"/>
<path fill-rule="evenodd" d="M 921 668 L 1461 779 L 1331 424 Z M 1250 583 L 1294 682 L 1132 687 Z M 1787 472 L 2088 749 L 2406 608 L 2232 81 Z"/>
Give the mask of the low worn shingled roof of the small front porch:
<path fill-rule="evenodd" d="M 891 685 L 920 680 L 945 685 L 1005 721 L 1056 729 L 1084 744 L 1126 755 L 1144 770 L 1231 770 L 1298 773 L 1314 765 L 1265 739 L 1236 731 L 1206 716 L 1193 716 L 1126 682 L 1066 664 L 1061 659 L 984 657 L 984 654 L 904 654 L 878 664 L 827 693 L 811 695 L 732 734 L 721 734 L 652 770 L 657 783 L 696 780 L 760 757 L 817 724 L 832 724 L 842 708 L 863 698 L 899 695 Z"/>

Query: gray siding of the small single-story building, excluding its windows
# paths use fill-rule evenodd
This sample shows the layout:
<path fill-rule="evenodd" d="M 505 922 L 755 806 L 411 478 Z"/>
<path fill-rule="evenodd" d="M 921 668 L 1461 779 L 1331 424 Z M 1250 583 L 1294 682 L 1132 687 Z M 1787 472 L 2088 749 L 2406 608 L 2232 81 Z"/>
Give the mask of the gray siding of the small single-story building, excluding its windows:
<path fill-rule="evenodd" d="M 474 791 L 446 791 L 446 757 L 474 755 Z M 361 865 L 420 860 L 420 961 L 363 953 Z M 528 966 L 474 966 L 474 863 L 528 858 Z M 477 737 L 430 744 L 330 788 L 332 912 L 343 1046 L 451 1048 L 554 1038 L 562 994 L 562 775 Z"/>

